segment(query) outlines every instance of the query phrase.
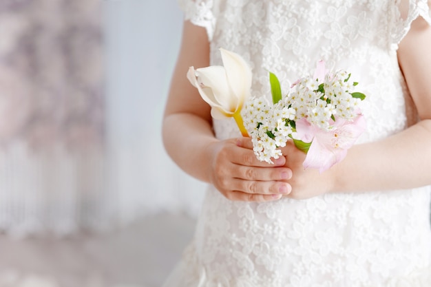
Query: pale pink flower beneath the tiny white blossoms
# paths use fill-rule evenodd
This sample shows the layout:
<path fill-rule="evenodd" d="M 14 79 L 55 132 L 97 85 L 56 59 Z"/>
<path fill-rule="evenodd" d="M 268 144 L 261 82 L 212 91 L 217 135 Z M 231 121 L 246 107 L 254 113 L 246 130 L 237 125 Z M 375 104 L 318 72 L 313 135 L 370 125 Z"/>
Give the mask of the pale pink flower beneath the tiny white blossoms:
<path fill-rule="evenodd" d="M 355 120 L 335 118 L 333 129 L 326 131 L 308 123 L 306 118 L 296 121 L 297 139 L 311 142 L 304 160 L 304 168 L 312 167 L 322 173 L 346 157 L 347 150 L 366 129 L 364 116 Z"/>

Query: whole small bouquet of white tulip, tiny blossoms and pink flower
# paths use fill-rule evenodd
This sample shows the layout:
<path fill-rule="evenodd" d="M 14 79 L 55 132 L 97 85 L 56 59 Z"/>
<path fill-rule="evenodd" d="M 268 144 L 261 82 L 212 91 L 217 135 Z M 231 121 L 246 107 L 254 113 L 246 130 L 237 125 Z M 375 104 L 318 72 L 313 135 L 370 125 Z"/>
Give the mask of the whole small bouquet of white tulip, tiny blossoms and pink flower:
<path fill-rule="evenodd" d="M 273 103 L 250 98 L 251 70 L 238 54 L 220 49 L 224 67 L 189 68 L 189 81 L 211 105 L 214 118 L 233 117 L 243 136 L 250 136 L 253 151 L 262 161 L 282 156 L 288 140 L 306 153 L 304 168 L 325 171 L 343 160 L 347 150 L 366 129 L 359 103 L 366 96 L 355 92 L 351 74 L 326 71 L 317 63 L 313 76 L 299 78 L 286 94 L 269 72 Z"/>

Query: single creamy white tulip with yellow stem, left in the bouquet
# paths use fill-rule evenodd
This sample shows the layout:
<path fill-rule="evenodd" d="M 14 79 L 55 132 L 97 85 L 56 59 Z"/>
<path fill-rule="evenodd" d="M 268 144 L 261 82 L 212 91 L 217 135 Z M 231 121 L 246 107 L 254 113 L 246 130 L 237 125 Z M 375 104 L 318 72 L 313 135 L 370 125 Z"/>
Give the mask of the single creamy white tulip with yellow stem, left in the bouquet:
<path fill-rule="evenodd" d="M 220 48 L 223 66 L 196 69 L 189 67 L 187 78 L 211 105 L 213 118 L 233 117 L 244 136 L 248 136 L 241 118 L 241 109 L 250 96 L 251 69 L 242 57 Z"/>

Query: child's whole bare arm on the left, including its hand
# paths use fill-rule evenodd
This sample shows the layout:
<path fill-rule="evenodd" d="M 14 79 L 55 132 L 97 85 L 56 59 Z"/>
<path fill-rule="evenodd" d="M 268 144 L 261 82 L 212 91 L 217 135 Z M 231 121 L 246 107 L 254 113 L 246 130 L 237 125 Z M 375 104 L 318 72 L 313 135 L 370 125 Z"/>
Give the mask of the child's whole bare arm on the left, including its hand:
<path fill-rule="evenodd" d="M 211 125 L 210 107 L 186 78 L 190 66 L 209 65 L 209 42 L 204 28 L 185 22 L 182 45 L 162 125 L 169 156 L 191 176 L 211 182 L 231 200 L 276 200 L 291 190 L 281 180 L 291 177 L 280 158 L 275 167 L 259 162 L 251 149 L 240 147 L 250 140 L 218 140 Z"/>

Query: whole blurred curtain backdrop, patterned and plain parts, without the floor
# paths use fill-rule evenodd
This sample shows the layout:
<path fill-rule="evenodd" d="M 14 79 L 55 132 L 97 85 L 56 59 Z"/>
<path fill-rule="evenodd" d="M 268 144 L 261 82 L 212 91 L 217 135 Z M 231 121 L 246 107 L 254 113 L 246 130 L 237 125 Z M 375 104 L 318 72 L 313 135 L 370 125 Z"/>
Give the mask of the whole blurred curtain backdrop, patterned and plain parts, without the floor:
<path fill-rule="evenodd" d="M 0 232 L 198 213 L 160 136 L 181 28 L 175 0 L 1 1 Z"/>

